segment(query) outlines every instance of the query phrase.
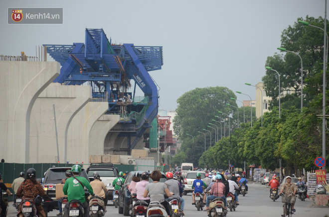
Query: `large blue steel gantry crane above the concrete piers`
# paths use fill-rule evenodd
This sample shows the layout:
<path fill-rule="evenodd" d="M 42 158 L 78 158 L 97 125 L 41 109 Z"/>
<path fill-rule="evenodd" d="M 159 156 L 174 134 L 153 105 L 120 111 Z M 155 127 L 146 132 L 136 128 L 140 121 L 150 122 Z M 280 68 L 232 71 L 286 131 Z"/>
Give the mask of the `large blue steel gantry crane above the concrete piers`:
<path fill-rule="evenodd" d="M 103 29 L 86 29 L 85 43 L 43 45 L 47 53 L 61 65 L 54 82 L 65 85 L 90 85 L 93 98 L 107 100 L 108 114 L 120 114 L 112 129 L 127 137 L 127 150 L 134 148 L 158 114 L 158 85 L 149 72 L 163 66 L 162 47 L 115 45 Z M 128 92 L 130 80 L 134 92 Z M 135 96 L 136 85 L 144 97 Z"/>

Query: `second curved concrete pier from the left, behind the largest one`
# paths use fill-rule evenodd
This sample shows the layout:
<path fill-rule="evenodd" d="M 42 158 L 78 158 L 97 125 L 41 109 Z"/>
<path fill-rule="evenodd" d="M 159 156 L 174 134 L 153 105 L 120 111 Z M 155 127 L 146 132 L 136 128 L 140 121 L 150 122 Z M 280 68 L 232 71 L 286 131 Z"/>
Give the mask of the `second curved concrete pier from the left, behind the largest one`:
<path fill-rule="evenodd" d="M 67 131 L 73 117 L 92 98 L 91 86 L 51 83 L 36 99 L 30 123 L 30 162 L 66 162 Z M 59 158 L 55 134 L 55 105 Z M 45 151 L 51 150 L 51 151 Z"/>

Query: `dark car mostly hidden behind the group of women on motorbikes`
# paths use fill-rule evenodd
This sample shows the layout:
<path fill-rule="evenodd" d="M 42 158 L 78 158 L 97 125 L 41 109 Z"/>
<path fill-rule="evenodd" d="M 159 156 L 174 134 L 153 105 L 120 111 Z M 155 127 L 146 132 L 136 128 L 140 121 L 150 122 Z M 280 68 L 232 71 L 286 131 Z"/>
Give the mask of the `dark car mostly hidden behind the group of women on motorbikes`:
<path fill-rule="evenodd" d="M 130 191 L 128 190 L 129 184 L 132 182 L 133 176 L 136 172 L 139 172 L 142 174 L 145 171 L 131 171 L 127 178 L 125 179 L 125 182 L 123 183 L 122 187 L 119 190 L 119 206 L 118 206 L 118 212 L 119 214 L 123 214 L 124 216 L 129 216 L 129 205 L 130 205 Z M 148 171 L 148 173 L 151 175 L 152 171 Z M 160 182 L 165 182 L 167 179 L 165 178 L 165 173 L 161 172 L 162 178 L 160 179 Z M 149 182 L 153 182 L 151 178 L 149 178 Z"/>

